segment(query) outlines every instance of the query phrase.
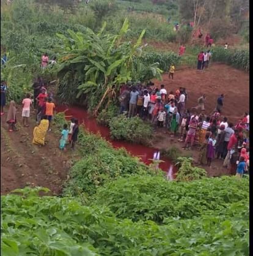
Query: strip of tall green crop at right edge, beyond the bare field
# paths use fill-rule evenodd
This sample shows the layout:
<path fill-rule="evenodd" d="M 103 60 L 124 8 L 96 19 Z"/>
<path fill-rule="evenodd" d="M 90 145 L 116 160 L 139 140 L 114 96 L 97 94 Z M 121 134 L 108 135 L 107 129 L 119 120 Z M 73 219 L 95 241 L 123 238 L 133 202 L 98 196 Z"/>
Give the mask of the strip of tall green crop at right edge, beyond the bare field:
<path fill-rule="evenodd" d="M 219 61 L 243 69 L 249 72 L 249 51 L 248 50 L 225 50 L 222 47 L 216 47 L 212 50 L 213 61 Z"/>

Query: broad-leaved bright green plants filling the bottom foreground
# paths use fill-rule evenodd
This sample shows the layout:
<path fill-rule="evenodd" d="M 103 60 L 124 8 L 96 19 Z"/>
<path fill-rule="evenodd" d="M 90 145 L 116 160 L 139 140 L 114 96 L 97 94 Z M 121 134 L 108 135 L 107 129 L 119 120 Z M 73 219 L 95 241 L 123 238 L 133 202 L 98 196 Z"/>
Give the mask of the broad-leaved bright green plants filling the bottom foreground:
<path fill-rule="evenodd" d="M 249 182 L 237 180 L 240 186 L 228 178 L 222 187 L 222 179 L 215 181 L 224 198 L 244 195 L 245 200 L 213 215 L 168 218 L 165 225 L 120 220 L 101 205 L 87 207 L 71 198 L 39 197 L 34 190 L 22 196 L 1 196 L 1 255 L 249 255 L 249 192 L 244 193 Z M 206 187 L 199 195 L 214 190 Z"/>

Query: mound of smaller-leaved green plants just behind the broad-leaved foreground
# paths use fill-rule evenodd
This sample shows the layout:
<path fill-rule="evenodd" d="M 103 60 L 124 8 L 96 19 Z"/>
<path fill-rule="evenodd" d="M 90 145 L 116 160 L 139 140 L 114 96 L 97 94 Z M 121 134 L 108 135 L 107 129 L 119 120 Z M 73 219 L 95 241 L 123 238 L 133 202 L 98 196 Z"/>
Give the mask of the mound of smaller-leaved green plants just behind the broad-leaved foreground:
<path fill-rule="evenodd" d="M 238 181 L 235 177 L 177 183 L 163 177 L 133 176 L 119 178 L 98 189 L 90 205 L 108 206 L 122 219 L 153 220 L 161 224 L 169 217 L 178 220 L 222 215 L 230 204 L 248 198 L 247 184 L 248 181 Z"/>

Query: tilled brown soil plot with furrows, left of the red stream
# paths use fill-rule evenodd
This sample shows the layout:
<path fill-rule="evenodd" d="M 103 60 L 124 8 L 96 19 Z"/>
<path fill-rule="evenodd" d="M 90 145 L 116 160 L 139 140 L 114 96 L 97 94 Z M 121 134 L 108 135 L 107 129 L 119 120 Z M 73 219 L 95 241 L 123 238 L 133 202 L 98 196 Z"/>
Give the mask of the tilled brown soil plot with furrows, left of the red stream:
<path fill-rule="evenodd" d="M 30 185 L 48 187 L 52 194 L 58 195 L 71 162 L 78 156 L 59 151 L 58 136 L 53 132 L 46 135 L 46 146 L 33 145 L 34 114 L 30 121 L 30 127 L 18 123 L 18 132 L 9 133 L 5 116 L 1 117 L 1 194 Z"/>

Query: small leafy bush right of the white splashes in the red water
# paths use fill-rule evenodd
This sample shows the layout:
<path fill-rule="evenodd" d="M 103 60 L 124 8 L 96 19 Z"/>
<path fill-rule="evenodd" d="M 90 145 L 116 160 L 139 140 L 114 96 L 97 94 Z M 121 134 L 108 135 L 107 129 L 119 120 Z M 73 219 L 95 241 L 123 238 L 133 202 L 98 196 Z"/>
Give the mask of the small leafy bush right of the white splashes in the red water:
<path fill-rule="evenodd" d="M 179 166 L 176 173 L 177 181 L 193 181 L 207 176 L 205 169 L 193 166 L 193 158 L 191 157 L 178 157 L 175 165 Z"/>

